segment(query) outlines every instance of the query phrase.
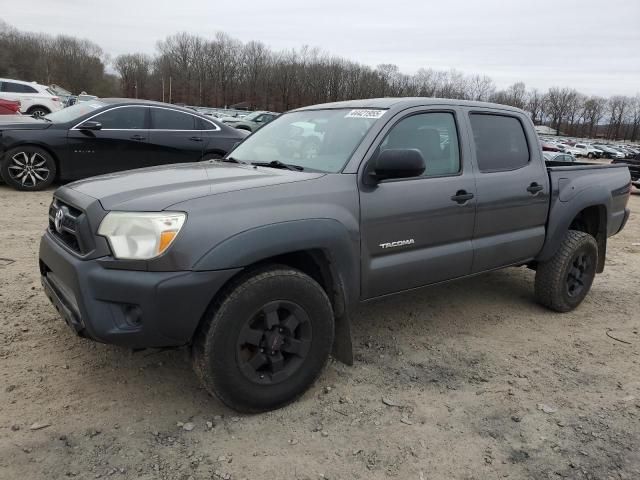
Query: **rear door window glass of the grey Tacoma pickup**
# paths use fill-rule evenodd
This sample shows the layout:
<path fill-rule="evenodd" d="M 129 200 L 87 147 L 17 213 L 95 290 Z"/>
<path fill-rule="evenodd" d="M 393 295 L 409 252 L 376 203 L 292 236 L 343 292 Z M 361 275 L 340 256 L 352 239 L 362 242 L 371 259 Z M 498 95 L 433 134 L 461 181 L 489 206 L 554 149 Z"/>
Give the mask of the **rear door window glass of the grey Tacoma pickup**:
<path fill-rule="evenodd" d="M 516 170 L 529 163 L 529 146 L 520 120 L 485 113 L 472 113 L 470 118 L 481 172 Z"/>

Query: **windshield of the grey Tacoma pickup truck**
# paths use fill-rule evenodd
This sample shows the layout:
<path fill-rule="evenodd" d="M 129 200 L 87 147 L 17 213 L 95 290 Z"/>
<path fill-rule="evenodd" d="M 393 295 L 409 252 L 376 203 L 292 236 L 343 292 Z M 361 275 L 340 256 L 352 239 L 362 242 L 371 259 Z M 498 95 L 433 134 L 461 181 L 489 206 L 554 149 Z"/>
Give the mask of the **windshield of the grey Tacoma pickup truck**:
<path fill-rule="evenodd" d="M 304 110 L 279 116 L 231 152 L 246 163 L 282 163 L 337 173 L 384 110 Z"/>

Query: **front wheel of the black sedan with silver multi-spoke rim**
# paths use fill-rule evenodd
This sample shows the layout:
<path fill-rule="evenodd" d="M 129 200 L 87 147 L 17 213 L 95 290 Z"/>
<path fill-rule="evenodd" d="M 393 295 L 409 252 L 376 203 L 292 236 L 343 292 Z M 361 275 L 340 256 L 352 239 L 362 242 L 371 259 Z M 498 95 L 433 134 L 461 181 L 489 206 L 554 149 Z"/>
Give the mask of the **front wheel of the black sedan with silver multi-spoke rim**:
<path fill-rule="evenodd" d="M 0 169 L 2 179 L 17 190 L 42 190 L 56 177 L 56 162 L 49 152 L 24 145 L 9 150 Z"/>

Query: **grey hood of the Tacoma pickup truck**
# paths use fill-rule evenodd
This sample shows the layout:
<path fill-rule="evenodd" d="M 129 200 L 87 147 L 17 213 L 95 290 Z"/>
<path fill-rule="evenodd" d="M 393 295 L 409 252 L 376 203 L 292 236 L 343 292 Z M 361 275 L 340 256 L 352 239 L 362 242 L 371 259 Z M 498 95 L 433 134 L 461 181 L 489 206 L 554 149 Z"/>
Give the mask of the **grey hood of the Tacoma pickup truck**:
<path fill-rule="evenodd" d="M 105 210 L 159 211 L 198 197 L 323 175 L 213 160 L 112 173 L 80 180 L 67 188 L 98 199 Z"/>

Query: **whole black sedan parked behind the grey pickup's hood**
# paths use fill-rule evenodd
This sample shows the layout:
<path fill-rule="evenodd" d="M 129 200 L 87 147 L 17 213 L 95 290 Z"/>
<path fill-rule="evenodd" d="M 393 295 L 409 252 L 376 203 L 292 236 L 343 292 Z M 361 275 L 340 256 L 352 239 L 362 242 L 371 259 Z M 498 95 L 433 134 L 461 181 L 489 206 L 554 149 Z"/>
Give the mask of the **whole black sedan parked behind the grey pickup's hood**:
<path fill-rule="evenodd" d="M 0 123 L 0 174 L 18 190 L 168 163 L 223 157 L 247 132 L 191 110 L 131 99 L 81 102 Z"/>

